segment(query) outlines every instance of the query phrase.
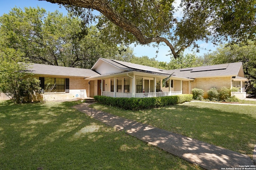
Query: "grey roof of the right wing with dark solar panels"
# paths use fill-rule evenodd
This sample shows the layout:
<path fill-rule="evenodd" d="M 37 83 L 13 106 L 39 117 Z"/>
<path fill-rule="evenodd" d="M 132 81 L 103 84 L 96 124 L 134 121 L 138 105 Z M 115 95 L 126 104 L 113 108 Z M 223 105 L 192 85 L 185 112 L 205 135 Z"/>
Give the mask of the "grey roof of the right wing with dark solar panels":
<path fill-rule="evenodd" d="M 173 73 L 173 76 L 176 77 L 186 77 L 192 79 L 203 77 L 233 77 L 238 76 L 239 74 L 239 76 L 244 77 L 242 62 L 166 70 L 166 72 L 170 74 Z"/>

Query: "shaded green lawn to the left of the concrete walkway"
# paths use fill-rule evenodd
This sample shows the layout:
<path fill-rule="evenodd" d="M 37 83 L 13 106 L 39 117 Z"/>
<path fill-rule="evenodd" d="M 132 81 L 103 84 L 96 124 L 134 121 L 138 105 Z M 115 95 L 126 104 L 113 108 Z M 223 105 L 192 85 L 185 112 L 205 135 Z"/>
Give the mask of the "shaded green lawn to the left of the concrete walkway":
<path fill-rule="evenodd" d="M 72 109 L 0 102 L 0 170 L 200 169 Z"/>

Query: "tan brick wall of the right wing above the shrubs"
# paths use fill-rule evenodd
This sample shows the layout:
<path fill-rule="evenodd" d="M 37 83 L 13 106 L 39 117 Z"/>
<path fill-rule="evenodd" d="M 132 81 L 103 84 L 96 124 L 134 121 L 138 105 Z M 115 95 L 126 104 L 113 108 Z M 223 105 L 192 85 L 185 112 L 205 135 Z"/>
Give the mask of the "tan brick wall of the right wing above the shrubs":
<path fill-rule="evenodd" d="M 207 91 L 212 87 L 215 87 L 218 90 L 220 90 L 221 87 L 230 88 L 231 85 L 232 85 L 231 77 L 202 78 L 202 79 L 195 79 L 195 81 L 191 83 L 191 89 L 194 89 L 194 88 L 203 89 L 204 98 L 206 98 Z"/>

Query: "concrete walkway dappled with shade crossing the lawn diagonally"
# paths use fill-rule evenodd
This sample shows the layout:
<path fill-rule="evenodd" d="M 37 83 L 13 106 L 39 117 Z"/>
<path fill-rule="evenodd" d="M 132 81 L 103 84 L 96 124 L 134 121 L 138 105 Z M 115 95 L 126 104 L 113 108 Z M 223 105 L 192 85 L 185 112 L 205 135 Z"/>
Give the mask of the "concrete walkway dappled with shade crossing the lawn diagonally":
<path fill-rule="evenodd" d="M 244 167 L 250 168 L 250 165 L 253 165 L 252 160 L 247 155 L 167 130 L 104 113 L 92 109 L 88 105 L 88 103 L 82 103 L 74 108 L 117 130 L 124 130 L 127 134 L 143 140 L 148 144 L 162 148 L 188 162 L 198 164 L 198 166 L 206 170 L 222 170 L 222 168 L 225 170 L 229 168 L 242 169 Z"/>

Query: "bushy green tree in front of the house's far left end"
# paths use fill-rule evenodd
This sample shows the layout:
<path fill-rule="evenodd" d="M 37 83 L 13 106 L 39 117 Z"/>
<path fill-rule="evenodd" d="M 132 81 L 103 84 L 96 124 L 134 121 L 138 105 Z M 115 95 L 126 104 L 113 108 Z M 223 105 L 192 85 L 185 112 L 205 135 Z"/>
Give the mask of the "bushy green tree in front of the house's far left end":
<path fill-rule="evenodd" d="M 40 90 L 40 81 L 30 77 L 23 55 L 15 49 L 0 49 L 0 91 L 15 103 L 31 102 L 32 95 Z"/>

